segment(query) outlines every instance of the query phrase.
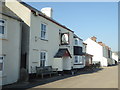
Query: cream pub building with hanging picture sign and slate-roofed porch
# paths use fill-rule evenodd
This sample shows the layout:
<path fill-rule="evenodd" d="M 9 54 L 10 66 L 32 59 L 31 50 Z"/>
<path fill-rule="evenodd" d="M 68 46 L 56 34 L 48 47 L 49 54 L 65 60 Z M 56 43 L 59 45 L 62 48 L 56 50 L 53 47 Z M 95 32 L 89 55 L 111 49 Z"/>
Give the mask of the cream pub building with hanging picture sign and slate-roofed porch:
<path fill-rule="evenodd" d="M 7 2 L 6 6 L 24 21 L 21 68 L 27 69 L 29 74 L 36 73 L 36 66 L 52 66 L 59 71 L 72 69 L 74 32 L 54 21 L 50 8 L 46 8 L 50 10 L 49 16 L 46 11 L 42 13 L 16 0 Z"/>

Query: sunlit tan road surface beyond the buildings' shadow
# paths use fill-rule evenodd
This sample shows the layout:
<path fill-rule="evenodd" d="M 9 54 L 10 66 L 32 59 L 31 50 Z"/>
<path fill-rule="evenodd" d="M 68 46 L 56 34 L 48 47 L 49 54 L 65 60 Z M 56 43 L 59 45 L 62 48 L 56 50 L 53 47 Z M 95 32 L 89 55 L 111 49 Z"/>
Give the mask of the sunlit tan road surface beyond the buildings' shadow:
<path fill-rule="evenodd" d="M 101 71 L 73 76 L 34 88 L 118 88 L 118 66 Z"/>

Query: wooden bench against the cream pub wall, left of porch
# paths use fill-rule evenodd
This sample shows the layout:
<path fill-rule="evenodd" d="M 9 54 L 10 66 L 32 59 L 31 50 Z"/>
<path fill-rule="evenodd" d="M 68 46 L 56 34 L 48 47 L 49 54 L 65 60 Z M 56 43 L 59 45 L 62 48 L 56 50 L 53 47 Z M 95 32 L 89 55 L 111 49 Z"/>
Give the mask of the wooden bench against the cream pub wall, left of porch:
<path fill-rule="evenodd" d="M 42 78 L 44 75 L 50 75 L 51 77 L 52 74 L 58 74 L 58 69 L 52 68 L 52 66 L 36 67 L 36 77 L 38 75 L 41 75 Z"/>

